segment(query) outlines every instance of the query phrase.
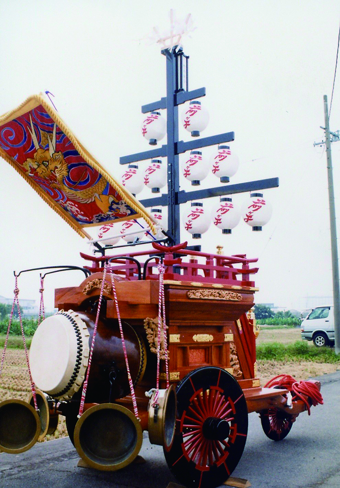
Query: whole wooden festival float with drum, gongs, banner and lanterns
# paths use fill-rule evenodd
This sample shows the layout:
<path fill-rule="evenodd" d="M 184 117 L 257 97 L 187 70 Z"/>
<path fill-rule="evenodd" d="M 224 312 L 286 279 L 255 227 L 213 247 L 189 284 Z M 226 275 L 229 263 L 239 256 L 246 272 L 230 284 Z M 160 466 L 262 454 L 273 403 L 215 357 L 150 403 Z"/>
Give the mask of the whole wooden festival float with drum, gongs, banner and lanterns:
<path fill-rule="evenodd" d="M 80 269 L 84 279 L 55 290 L 58 312 L 39 318 L 29 353 L 21 327 L 32 393 L 27 402 L 0 403 L 0 451 L 27 451 L 64 416 L 75 449 L 92 468 L 128 466 L 148 431 L 180 483 L 211 488 L 237 466 L 249 413 L 259 413 L 264 433 L 279 441 L 322 397 L 320 383 L 288 375 L 260 386 L 251 312 L 257 259 L 224 255 L 221 247 L 203 252 L 181 239 L 180 206 L 186 202 L 183 224 L 195 242 L 211 223 L 230 234 L 242 218 L 261 231 L 271 214 L 262 191 L 277 187 L 278 179 L 229 183 L 238 167 L 230 145 L 234 133 L 201 137 L 208 114 L 198 99 L 205 88 L 189 91 L 188 56 L 180 45 L 161 54 L 166 97 L 142 107 L 142 136 L 152 149 L 120 158 L 128 165 L 122 183 L 43 96 L 0 118 L 1 156 L 93 246 L 92 254 L 81 253 L 83 268 L 51 263 L 22 271 L 44 271 L 41 303 L 47 274 Z M 189 142 L 179 140 L 180 106 Z M 202 151 L 209 146 L 220 186 L 180 190 L 179 156 L 183 178 L 197 187 L 209 170 Z M 144 185 L 152 195 L 139 201 Z M 239 210 L 231 196 L 244 192 L 250 197 Z M 211 214 L 203 203 L 210 197 L 216 197 Z M 87 230 L 96 226 L 94 239 Z M 12 315 L 22 272 L 15 273 Z"/>

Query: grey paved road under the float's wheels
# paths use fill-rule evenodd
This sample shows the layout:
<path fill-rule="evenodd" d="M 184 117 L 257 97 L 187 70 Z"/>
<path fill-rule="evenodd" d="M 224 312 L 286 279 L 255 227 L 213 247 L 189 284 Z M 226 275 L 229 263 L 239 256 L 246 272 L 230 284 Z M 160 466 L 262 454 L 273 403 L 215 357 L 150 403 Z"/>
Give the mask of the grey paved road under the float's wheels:
<path fill-rule="evenodd" d="M 340 372 L 320 378 L 325 404 L 304 412 L 281 442 L 263 433 L 257 414 L 249 415 L 244 454 L 233 476 L 253 488 L 338 488 L 340 486 Z M 162 448 L 146 438 L 145 464 L 117 472 L 78 468 L 68 438 L 36 444 L 19 455 L 0 454 L 0 486 L 9 488 L 166 488 L 176 482 Z"/>

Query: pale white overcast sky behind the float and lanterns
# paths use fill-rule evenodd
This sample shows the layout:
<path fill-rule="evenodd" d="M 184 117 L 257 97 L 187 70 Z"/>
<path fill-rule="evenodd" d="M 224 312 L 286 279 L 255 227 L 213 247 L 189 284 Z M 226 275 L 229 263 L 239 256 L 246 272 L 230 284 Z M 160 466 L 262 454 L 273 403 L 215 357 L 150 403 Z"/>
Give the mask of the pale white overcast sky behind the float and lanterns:
<path fill-rule="evenodd" d="M 323 96 L 328 106 L 331 99 L 340 22 L 336 0 L 3 0 L 0 114 L 49 90 L 61 118 L 120 180 L 119 157 L 150 148 L 141 136 L 141 106 L 165 96 L 165 58 L 159 45 L 143 38 L 154 26 L 168 28 L 170 9 L 180 19 L 191 13 L 196 27 L 183 38 L 183 47 L 190 56 L 189 89 L 206 88 L 201 102 L 210 120 L 202 136 L 235 132 L 230 147 L 240 167 L 231 183 L 280 179 L 279 188 L 264 191 L 273 215 L 262 232 L 243 222 L 225 236 L 210 227 L 199 242 L 202 250 L 214 253 L 223 245 L 226 255 L 258 257 L 257 303 L 304 308 L 306 297 L 331 296 L 326 155 L 324 146 L 313 143 L 323 140 Z M 330 130 L 339 129 L 338 72 Z M 190 139 L 183 127 L 180 138 Z M 211 152 L 207 148 L 204 155 Z M 338 217 L 340 142 L 332 144 L 332 161 Z M 211 175 L 201 188 L 217 185 Z M 181 189 L 190 191 L 190 184 L 181 181 Z M 150 196 L 148 189 L 138 195 Z M 241 205 L 247 196 L 235 195 L 233 201 Z M 14 270 L 83 265 L 79 252 L 90 252 L 87 240 L 4 160 L 0 230 L 5 297 L 13 296 Z M 198 243 L 184 229 L 181 236 Z M 53 307 L 55 288 L 81 280 L 79 272 L 48 276 L 46 307 Z M 38 274 L 21 275 L 19 289 L 21 298 L 38 302 Z"/>

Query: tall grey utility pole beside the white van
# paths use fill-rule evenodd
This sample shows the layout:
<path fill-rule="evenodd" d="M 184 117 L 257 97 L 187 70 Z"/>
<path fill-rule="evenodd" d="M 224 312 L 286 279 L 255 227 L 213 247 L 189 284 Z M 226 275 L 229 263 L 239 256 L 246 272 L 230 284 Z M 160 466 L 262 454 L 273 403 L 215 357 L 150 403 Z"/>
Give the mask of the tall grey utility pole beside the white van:
<path fill-rule="evenodd" d="M 332 255 L 332 276 L 333 276 L 333 305 L 334 305 L 334 339 L 335 353 L 340 354 L 340 288 L 339 288 L 339 264 L 337 256 L 336 220 L 334 204 L 333 168 L 331 156 L 331 143 L 339 141 L 339 131 L 330 132 L 328 118 L 327 95 L 323 96 L 323 107 L 325 113 L 325 141 L 314 143 L 314 146 L 326 144 L 327 176 L 328 176 L 328 198 L 329 198 L 329 220 L 330 220 L 330 245 Z"/>

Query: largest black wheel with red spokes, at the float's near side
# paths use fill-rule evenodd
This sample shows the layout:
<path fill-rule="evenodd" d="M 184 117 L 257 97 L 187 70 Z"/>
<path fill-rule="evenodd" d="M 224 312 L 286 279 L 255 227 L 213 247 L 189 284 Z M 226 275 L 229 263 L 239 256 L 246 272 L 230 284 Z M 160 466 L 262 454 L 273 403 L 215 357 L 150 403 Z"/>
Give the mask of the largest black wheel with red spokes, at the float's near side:
<path fill-rule="evenodd" d="M 248 411 L 232 375 L 216 367 L 189 373 L 177 386 L 175 439 L 167 465 L 193 488 L 220 486 L 237 466 L 245 445 Z"/>

